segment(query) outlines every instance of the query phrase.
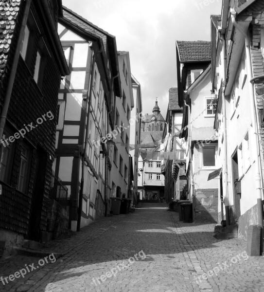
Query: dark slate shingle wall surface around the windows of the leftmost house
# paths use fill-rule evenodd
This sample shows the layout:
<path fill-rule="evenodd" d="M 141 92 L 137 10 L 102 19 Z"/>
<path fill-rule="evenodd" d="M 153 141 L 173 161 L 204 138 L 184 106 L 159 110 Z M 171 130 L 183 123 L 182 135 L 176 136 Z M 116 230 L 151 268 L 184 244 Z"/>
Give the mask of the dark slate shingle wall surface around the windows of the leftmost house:
<path fill-rule="evenodd" d="M 12 65 L 12 58 L 16 49 L 16 42 L 19 34 L 19 25 L 22 20 L 22 11 L 24 9 L 25 1 L 21 1 L 22 5 L 18 14 L 18 23 L 12 38 L 12 44 L 6 64 L 5 75 L 2 79 L 0 88 L 0 107 L 2 106 L 9 74 Z M 49 47 L 49 38 L 46 36 L 46 29 L 44 29 L 42 22 L 37 14 L 34 2 L 32 2 L 31 9 L 37 21 L 37 25 L 46 41 L 49 51 L 53 54 L 53 50 Z M 1 10 L 0 10 L 1 11 Z M 17 129 L 24 128 L 24 124 L 36 125 L 36 119 L 41 117 L 44 113 L 52 111 L 54 115 L 53 120 L 47 119 L 37 128 L 26 134 L 28 142 L 35 147 L 40 146 L 47 152 L 46 164 L 46 178 L 44 186 L 41 225 L 40 229 L 46 230 L 47 209 L 49 204 L 49 190 L 51 187 L 52 161 L 50 155 L 54 157 L 55 147 L 55 130 L 56 130 L 56 114 L 57 114 L 57 96 L 60 85 L 60 71 L 57 68 L 54 56 L 46 56 L 46 64 L 44 71 L 43 85 L 40 89 L 36 85 L 30 70 L 34 72 L 35 57 L 38 48 L 39 33 L 36 33 L 35 42 L 33 45 L 32 62 L 29 68 L 25 62 L 19 57 L 18 68 L 15 77 L 15 83 L 12 91 L 10 106 L 7 114 L 7 119 L 11 124 L 15 125 Z M 30 70 L 29 70 L 30 69 Z M 9 128 L 12 128 L 9 125 Z M 17 130 L 14 129 L 16 132 Z M 27 235 L 29 228 L 30 209 L 32 197 L 35 194 L 36 181 L 36 150 L 32 152 L 29 188 L 27 194 L 22 194 L 15 189 L 18 183 L 18 174 L 20 166 L 20 153 L 22 142 L 26 142 L 26 138 L 22 141 L 20 138 L 16 140 L 14 162 L 12 165 L 11 186 L 3 185 L 2 195 L 0 196 L 0 228 L 12 230 L 14 232 Z"/>

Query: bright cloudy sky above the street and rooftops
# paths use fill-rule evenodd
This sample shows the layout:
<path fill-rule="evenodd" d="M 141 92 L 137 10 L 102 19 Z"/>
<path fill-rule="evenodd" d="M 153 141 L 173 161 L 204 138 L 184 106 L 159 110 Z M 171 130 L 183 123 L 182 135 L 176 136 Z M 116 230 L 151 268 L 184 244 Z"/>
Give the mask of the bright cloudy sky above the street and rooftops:
<path fill-rule="evenodd" d="M 142 108 L 166 117 L 169 89 L 177 87 L 176 40 L 211 40 L 210 15 L 222 0 L 62 0 L 64 6 L 116 37 L 141 84 Z"/>

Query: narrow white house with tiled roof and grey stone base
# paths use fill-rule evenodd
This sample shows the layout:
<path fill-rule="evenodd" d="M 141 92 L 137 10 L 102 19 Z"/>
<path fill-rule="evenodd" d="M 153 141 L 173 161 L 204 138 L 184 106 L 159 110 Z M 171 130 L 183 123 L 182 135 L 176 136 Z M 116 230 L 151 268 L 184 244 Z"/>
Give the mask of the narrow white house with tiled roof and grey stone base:
<path fill-rule="evenodd" d="M 186 50 L 188 49 L 188 50 Z M 187 142 L 186 199 L 193 201 L 195 220 L 217 221 L 218 138 L 213 129 L 217 99 L 211 94 L 211 42 L 176 41 L 178 101 L 183 107 L 179 138 Z"/>

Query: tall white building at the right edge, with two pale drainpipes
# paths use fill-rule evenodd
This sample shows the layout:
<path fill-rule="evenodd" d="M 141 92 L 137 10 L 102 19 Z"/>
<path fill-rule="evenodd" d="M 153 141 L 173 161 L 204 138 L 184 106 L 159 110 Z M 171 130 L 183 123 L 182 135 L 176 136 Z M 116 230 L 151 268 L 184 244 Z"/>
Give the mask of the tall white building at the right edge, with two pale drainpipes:
<path fill-rule="evenodd" d="M 263 228 L 263 12 L 262 1 L 224 1 L 221 16 L 211 17 L 214 127 L 223 173 L 218 220 L 238 225 L 243 239 L 250 225 Z"/>

